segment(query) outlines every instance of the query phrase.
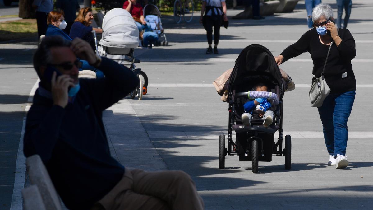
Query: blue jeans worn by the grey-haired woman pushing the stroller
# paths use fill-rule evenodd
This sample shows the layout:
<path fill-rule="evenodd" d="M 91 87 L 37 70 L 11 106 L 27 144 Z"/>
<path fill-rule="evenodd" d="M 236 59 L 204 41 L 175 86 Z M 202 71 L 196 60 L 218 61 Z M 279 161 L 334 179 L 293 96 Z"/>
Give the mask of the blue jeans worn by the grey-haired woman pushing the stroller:
<path fill-rule="evenodd" d="M 347 121 L 354 105 L 355 90 L 345 93 L 330 93 L 323 105 L 318 107 L 323 124 L 324 139 L 330 155 L 346 155 Z"/>

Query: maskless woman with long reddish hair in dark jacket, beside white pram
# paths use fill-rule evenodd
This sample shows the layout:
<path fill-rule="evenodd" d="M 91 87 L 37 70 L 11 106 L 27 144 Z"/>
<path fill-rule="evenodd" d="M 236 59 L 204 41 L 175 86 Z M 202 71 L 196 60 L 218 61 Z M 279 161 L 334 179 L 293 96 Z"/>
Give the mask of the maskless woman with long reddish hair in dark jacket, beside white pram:
<path fill-rule="evenodd" d="M 72 24 L 70 29 L 70 37 L 74 39 L 79 37 L 88 43 L 90 43 L 92 49 L 95 51 L 95 41 L 93 38 L 92 30 L 96 33 L 102 33 L 102 29 L 93 28 L 90 26 L 93 22 L 93 13 L 90 7 L 84 7 L 79 10 L 78 17 L 75 19 L 75 23 Z"/>

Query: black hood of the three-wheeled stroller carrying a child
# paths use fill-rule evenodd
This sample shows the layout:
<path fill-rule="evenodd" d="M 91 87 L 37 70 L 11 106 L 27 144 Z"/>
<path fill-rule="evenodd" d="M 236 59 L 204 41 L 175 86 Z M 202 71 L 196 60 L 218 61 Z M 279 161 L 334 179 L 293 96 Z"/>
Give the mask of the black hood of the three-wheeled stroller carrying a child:
<path fill-rule="evenodd" d="M 280 98 L 286 89 L 280 69 L 272 53 L 260 44 L 251 44 L 239 54 L 236 64 L 224 87 L 229 92 L 233 90 L 247 92 L 248 83 L 263 82 L 280 87 Z"/>

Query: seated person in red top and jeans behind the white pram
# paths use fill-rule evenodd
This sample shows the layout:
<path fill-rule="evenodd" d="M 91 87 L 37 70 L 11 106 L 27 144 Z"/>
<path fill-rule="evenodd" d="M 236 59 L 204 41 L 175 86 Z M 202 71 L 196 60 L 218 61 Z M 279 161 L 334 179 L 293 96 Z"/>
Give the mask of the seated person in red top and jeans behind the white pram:
<path fill-rule="evenodd" d="M 150 24 L 145 21 L 144 12 L 140 3 L 137 3 L 136 0 L 127 0 L 123 4 L 123 9 L 131 13 L 140 32 L 142 30 L 151 30 Z"/>

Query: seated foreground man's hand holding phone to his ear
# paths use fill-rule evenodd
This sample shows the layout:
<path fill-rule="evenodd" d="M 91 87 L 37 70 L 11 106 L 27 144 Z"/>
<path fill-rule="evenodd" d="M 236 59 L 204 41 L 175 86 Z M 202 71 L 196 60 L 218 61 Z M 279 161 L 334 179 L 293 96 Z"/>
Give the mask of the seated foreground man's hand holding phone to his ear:
<path fill-rule="evenodd" d="M 54 71 L 51 79 L 51 93 L 54 105 L 65 108 L 69 102 L 68 89 L 74 87 L 73 79 L 70 75 L 60 75 L 57 78 L 57 72 Z"/>

